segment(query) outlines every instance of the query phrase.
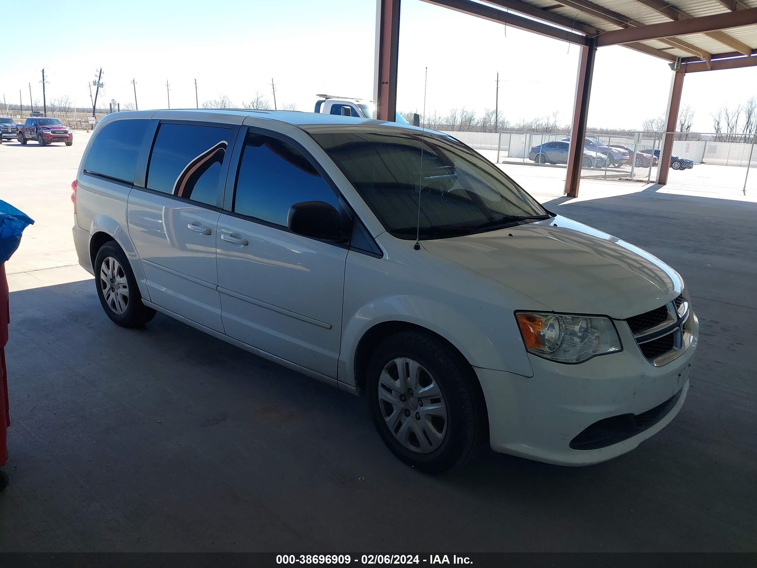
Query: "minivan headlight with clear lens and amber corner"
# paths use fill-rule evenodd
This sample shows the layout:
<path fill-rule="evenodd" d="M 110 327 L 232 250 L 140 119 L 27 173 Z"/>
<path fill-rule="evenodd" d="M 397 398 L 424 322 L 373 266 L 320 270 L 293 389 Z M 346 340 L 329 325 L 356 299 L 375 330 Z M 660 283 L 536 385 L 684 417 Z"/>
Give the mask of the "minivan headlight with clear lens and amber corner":
<path fill-rule="evenodd" d="M 545 359 L 581 363 L 623 348 L 606 317 L 517 312 L 516 319 L 526 350 Z"/>

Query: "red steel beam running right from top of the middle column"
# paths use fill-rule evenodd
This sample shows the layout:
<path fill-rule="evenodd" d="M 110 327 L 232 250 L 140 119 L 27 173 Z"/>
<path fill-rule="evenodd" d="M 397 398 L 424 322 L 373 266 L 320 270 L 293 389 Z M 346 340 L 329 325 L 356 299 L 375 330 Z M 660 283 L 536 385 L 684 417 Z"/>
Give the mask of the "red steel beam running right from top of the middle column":
<path fill-rule="evenodd" d="M 748 10 L 712 14 L 712 16 L 692 17 L 686 20 L 652 23 L 646 26 L 626 28 L 625 30 L 604 32 L 597 36 L 597 46 L 684 36 L 687 33 L 712 32 L 731 27 L 749 26 L 754 23 L 757 23 L 757 8 L 749 8 Z"/>

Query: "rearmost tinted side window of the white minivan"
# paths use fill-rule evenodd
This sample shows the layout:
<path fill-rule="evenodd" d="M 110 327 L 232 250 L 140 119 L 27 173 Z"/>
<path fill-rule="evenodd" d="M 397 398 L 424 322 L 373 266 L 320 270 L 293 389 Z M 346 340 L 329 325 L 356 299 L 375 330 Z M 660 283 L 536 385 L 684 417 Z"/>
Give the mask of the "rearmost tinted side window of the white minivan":
<path fill-rule="evenodd" d="M 139 150 L 149 120 L 116 120 L 98 133 L 84 163 L 88 173 L 134 183 Z"/>

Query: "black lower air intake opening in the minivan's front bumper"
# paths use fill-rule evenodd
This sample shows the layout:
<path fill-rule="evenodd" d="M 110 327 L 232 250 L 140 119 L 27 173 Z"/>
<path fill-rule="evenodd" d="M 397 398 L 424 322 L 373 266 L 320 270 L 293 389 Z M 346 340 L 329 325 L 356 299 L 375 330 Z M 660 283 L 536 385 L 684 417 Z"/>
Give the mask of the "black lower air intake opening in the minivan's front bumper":
<path fill-rule="evenodd" d="M 678 398 L 681 398 L 681 392 L 683 390 L 678 391 L 662 404 L 658 404 L 641 414 L 618 414 L 618 416 L 598 420 L 573 438 L 570 447 L 574 450 L 598 450 L 640 434 L 644 430 L 650 429 L 673 410 Z"/>

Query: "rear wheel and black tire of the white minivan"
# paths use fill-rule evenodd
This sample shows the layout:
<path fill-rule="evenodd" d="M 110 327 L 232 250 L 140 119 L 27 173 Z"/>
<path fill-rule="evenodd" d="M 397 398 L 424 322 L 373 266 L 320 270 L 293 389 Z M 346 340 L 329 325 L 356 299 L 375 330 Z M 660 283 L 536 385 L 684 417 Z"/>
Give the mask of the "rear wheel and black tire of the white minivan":
<path fill-rule="evenodd" d="M 95 257 L 95 286 L 102 309 L 114 323 L 142 327 L 155 317 L 155 311 L 142 304 L 132 267 L 115 241 L 102 245 Z"/>

